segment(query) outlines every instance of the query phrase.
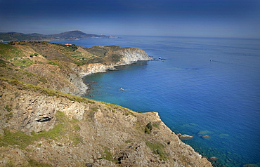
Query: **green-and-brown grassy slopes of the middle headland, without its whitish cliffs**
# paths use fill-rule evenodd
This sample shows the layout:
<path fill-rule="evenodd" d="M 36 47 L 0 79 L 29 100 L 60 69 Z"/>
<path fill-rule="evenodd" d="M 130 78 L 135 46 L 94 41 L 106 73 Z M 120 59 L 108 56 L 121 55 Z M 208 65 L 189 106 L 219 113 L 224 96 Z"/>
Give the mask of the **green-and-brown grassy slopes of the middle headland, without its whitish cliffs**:
<path fill-rule="evenodd" d="M 120 64 L 119 46 L 80 47 L 39 41 L 0 43 L 0 76 L 77 94 L 78 67 L 93 63 Z M 84 69 L 86 67 L 82 67 Z M 79 68 L 80 69 L 80 68 Z M 65 88 L 66 87 L 66 88 Z M 77 88 L 78 87 L 78 88 Z"/>

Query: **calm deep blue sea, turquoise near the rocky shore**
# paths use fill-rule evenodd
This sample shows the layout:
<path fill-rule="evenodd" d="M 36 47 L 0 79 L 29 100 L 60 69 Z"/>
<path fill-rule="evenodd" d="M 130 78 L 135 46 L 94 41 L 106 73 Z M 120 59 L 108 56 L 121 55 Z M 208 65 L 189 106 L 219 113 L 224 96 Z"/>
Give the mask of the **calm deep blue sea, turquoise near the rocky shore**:
<path fill-rule="evenodd" d="M 260 39 L 122 36 L 53 42 L 143 49 L 157 60 L 84 77 L 91 85 L 86 98 L 158 112 L 174 133 L 193 136 L 183 142 L 196 152 L 216 156 L 214 166 L 260 166 Z"/>

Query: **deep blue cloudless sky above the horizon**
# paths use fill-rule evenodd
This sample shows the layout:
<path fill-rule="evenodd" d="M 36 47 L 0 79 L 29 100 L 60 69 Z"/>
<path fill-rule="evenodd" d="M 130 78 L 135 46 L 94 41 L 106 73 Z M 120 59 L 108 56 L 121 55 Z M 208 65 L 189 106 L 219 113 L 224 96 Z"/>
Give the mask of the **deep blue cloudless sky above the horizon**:
<path fill-rule="evenodd" d="M 0 32 L 260 38 L 260 0 L 0 0 Z"/>

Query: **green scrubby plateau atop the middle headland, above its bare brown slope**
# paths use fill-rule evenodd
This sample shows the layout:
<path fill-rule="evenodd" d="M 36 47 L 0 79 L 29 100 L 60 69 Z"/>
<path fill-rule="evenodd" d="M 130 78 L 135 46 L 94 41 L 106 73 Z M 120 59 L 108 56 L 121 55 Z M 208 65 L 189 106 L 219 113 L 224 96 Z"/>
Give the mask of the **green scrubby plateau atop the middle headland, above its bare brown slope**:
<path fill-rule="evenodd" d="M 122 55 L 117 51 L 125 49 L 119 46 L 93 46 L 90 48 L 79 47 L 75 45 L 54 44 L 39 41 L 21 41 L 8 44 L 0 43 L 0 55 L 8 61 L 14 61 L 14 58 L 30 58 L 43 56 L 46 60 L 61 60 L 72 62 L 77 65 L 86 65 L 89 63 L 110 64 L 118 62 Z"/>

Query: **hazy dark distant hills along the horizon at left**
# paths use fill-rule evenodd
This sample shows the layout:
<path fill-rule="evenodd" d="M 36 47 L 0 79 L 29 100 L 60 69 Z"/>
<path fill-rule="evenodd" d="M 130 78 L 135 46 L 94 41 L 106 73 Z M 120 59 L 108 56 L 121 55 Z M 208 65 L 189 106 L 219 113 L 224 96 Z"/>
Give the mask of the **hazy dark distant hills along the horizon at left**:
<path fill-rule="evenodd" d="M 62 32 L 60 34 L 22 34 L 19 32 L 0 32 L 1 41 L 58 41 L 58 40 L 78 40 L 93 38 L 118 38 L 116 36 L 106 36 L 97 34 L 86 34 L 81 31 Z"/>

